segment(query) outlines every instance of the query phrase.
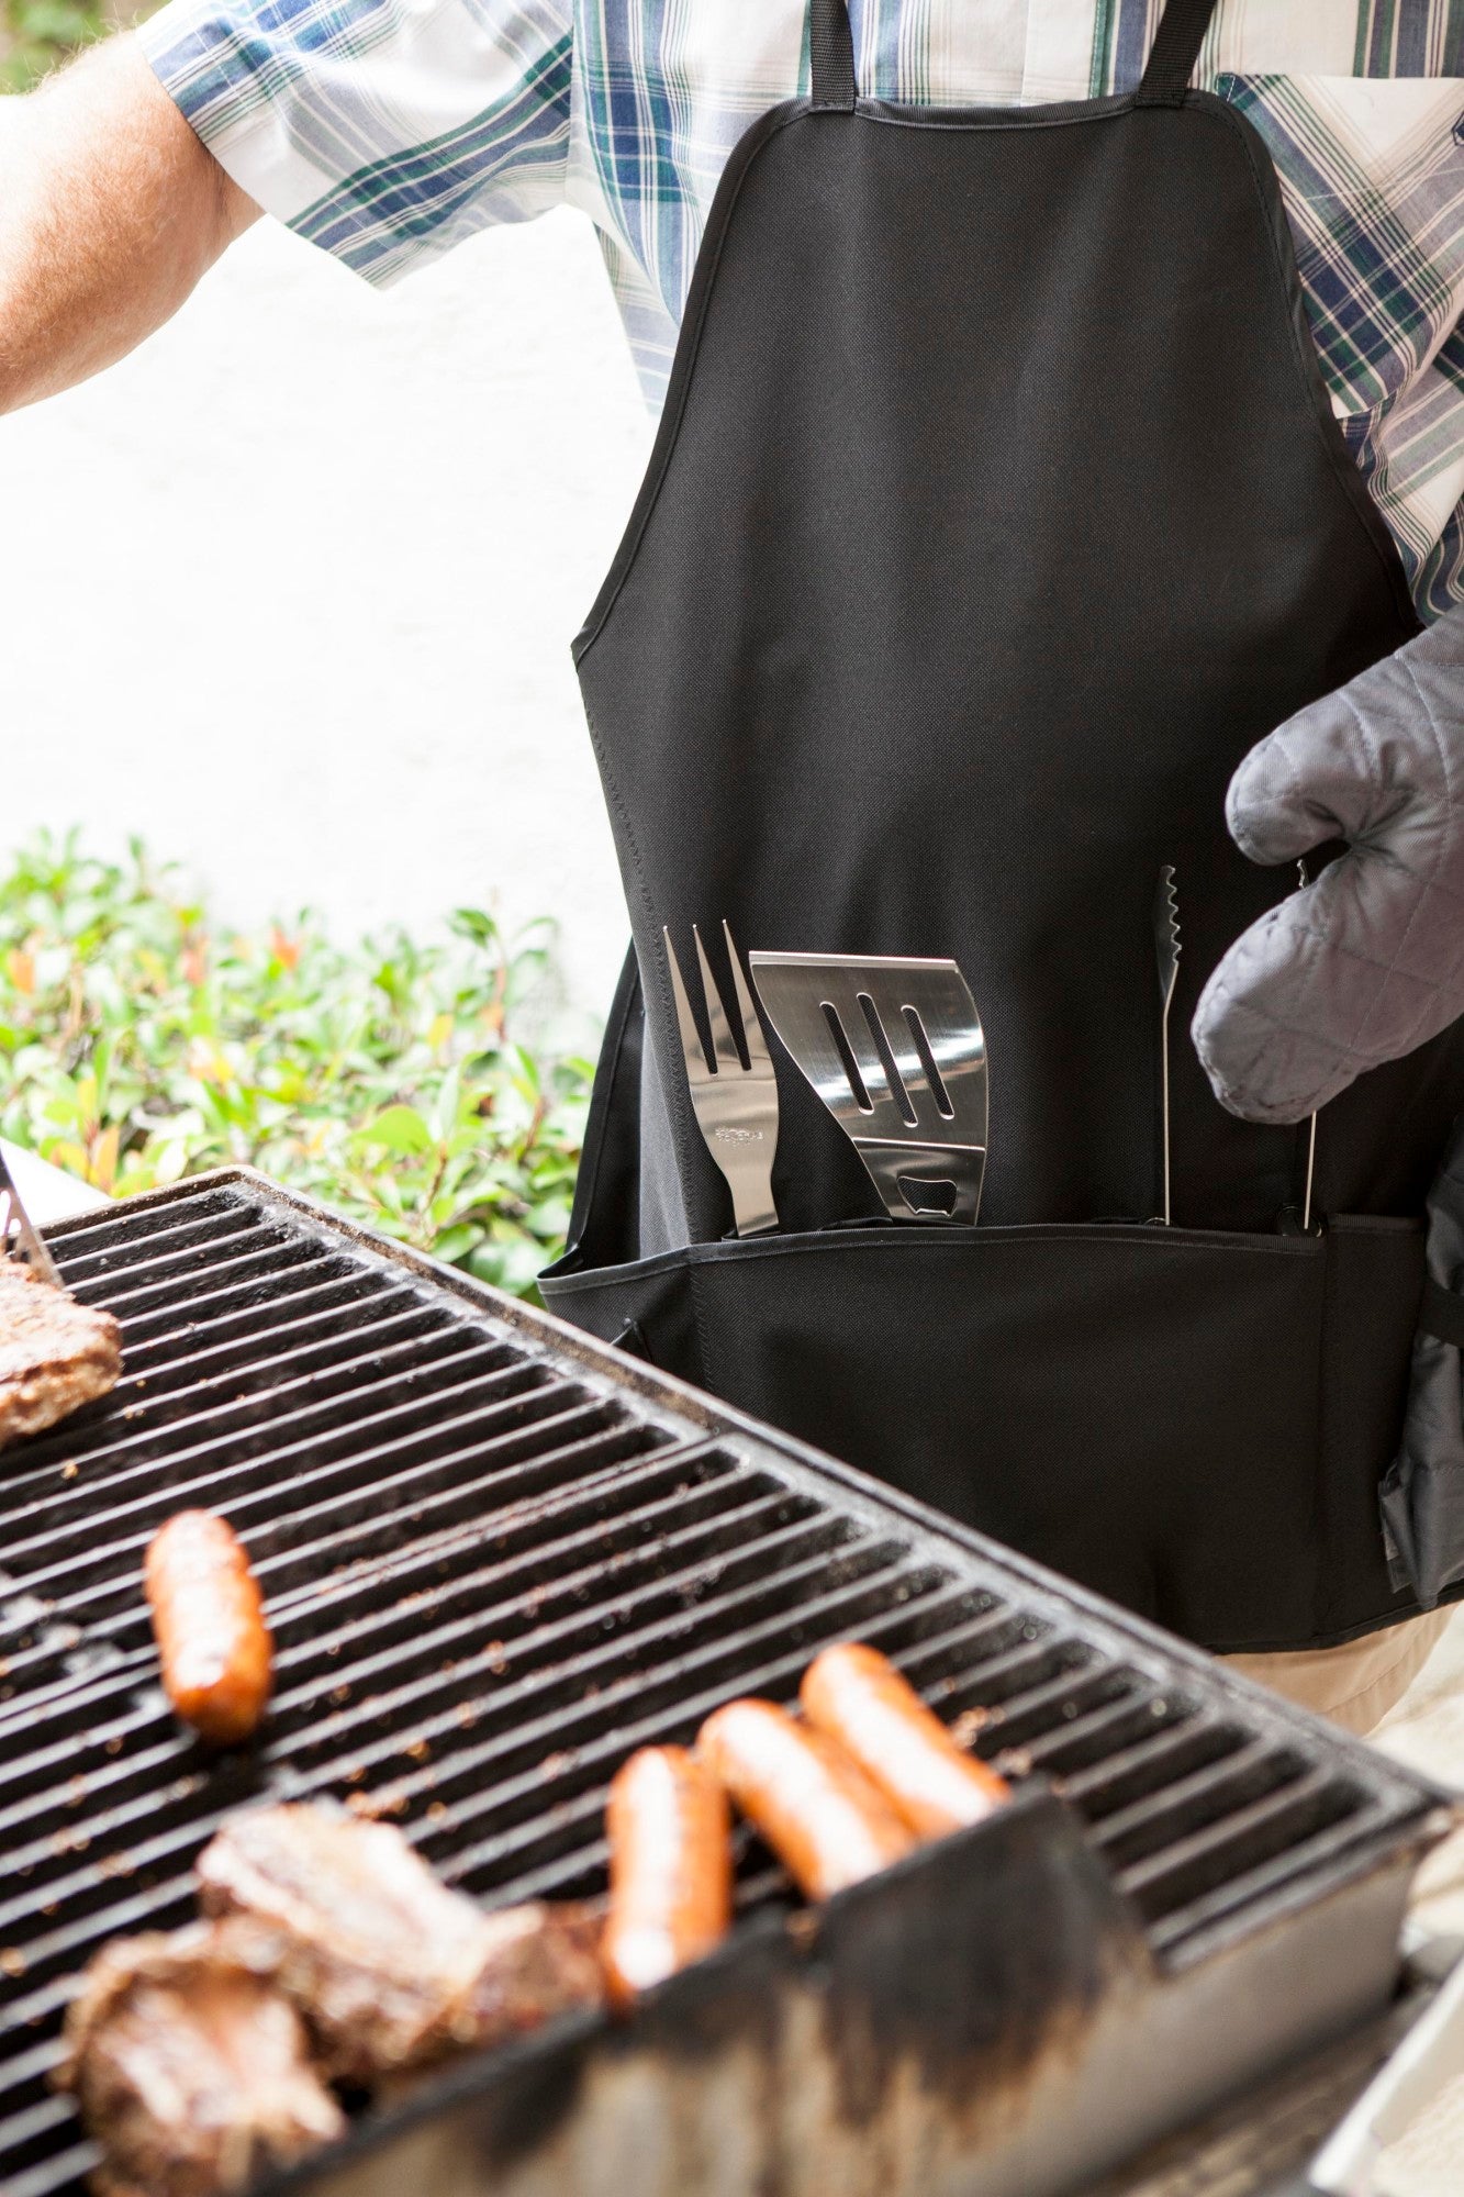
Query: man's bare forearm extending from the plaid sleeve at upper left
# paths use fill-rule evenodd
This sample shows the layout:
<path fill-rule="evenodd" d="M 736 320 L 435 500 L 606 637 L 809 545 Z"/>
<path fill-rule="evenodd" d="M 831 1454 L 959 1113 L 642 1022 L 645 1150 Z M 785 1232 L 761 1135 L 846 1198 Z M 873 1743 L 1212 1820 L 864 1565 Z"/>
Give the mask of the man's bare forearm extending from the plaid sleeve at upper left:
<path fill-rule="evenodd" d="M 130 352 L 257 213 L 130 37 L 0 97 L 0 413 Z"/>

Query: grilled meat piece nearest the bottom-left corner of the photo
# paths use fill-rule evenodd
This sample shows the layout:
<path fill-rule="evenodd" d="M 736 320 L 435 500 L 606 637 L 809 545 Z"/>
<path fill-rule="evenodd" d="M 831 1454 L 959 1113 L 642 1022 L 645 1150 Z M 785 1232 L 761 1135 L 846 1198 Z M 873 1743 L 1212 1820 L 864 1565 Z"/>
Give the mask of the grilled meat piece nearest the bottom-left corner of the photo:
<path fill-rule="evenodd" d="M 273 1964 L 248 1922 L 119 1938 L 95 1958 L 57 2083 L 103 2146 L 99 2197 L 222 2197 L 343 2133 Z"/>

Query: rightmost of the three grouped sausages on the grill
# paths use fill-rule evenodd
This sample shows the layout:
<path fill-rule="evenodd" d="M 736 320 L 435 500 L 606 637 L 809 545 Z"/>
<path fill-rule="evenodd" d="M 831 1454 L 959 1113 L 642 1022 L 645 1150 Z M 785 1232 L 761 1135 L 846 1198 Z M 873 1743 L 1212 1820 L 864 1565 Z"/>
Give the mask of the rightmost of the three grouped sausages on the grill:
<path fill-rule="evenodd" d="M 956 1747 L 888 1657 L 853 1641 L 824 1648 L 802 1674 L 802 1714 L 873 1777 L 917 1839 L 978 1824 L 1011 1786 Z"/>

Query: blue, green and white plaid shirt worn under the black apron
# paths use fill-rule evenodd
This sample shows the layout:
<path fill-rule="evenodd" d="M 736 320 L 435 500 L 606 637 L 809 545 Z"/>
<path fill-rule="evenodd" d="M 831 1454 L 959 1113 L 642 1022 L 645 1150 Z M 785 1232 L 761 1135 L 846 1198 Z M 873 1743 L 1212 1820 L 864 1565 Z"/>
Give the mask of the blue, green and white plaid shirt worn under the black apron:
<path fill-rule="evenodd" d="M 853 0 L 879 99 L 1130 90 L 1158 0 Z M 580 207 L 651 404 L 721 167 L 807 90 L 807 0 L 171 0 L 229 174 L 369 281 Z M 1387 81 L 1380 81 L 1387 79 Z M 1275 160 L 1321 367 L 1416 602 L 1464 600 L 1464 0 L 1222 0 L 1196 81 Z"/>

